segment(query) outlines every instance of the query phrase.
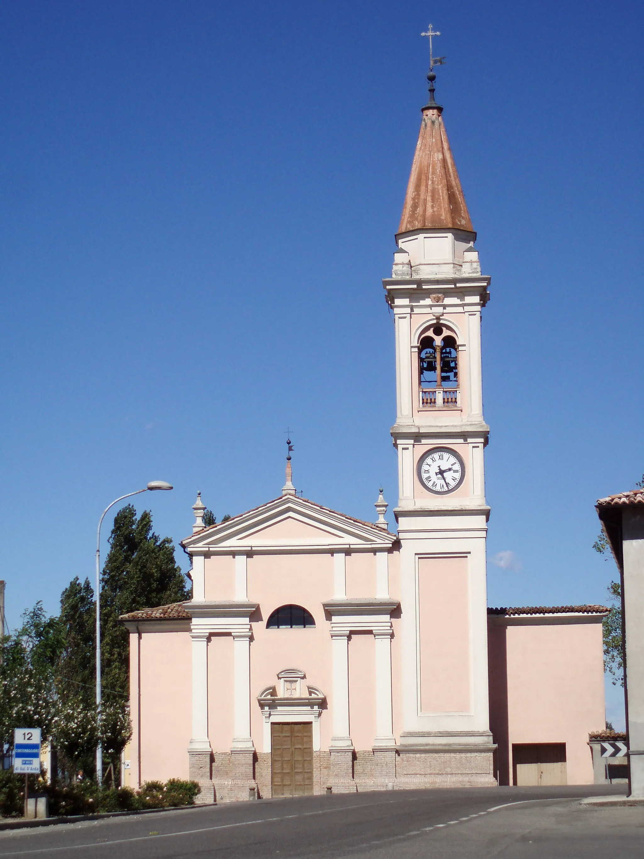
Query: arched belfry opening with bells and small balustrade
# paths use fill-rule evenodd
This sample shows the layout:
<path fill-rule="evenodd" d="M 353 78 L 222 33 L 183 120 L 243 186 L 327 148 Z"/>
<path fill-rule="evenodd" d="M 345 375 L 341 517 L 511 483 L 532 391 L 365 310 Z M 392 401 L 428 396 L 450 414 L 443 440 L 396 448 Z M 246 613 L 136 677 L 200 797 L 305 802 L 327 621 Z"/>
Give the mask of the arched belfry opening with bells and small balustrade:
<path fill-rule="evenodd" d="M 435 325 L 418 344 L 418 382 L 421 408 L 460 405 L 459 349 L 444 326 Z"/>

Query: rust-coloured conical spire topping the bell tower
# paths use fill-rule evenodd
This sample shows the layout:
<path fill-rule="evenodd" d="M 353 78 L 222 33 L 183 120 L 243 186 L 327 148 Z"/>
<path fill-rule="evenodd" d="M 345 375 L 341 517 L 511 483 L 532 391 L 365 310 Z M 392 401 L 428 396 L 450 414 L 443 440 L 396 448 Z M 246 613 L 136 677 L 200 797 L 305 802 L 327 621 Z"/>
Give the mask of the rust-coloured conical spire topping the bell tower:
<path fill-rule="evenodd" d="M 408 233 L 412 229 L 463 229 L 473 233 L 443 125 L 443 108 L 434 101 L 434 72 L 430 70 L 427 78 L 429 101 L 422 108 L 421 131 L 398 233 Z"/>

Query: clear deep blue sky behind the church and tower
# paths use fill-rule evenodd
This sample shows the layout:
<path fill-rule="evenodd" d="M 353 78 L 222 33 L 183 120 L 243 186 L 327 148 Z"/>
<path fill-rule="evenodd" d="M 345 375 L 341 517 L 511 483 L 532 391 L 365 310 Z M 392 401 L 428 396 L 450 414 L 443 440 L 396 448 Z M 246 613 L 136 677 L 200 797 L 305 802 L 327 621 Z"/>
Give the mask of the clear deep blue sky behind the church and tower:
<path fill-rule="evenodd" d="M 101 510 L 150 479 L 175 490 L 137 509 L 175 541 L 197 489 L 219 517 L 275 497 L 287 426 L 305 496 L 372 519 L 382 482 L 395 503 L 380 279 L 429 21 L 492 276 L 489 556 L 512 554 L 489 601 L 604 601 L 593 504 L 644 471 L 642 19 L 593 0 L 0 5 L 9 624 L 92 575 Z"/>

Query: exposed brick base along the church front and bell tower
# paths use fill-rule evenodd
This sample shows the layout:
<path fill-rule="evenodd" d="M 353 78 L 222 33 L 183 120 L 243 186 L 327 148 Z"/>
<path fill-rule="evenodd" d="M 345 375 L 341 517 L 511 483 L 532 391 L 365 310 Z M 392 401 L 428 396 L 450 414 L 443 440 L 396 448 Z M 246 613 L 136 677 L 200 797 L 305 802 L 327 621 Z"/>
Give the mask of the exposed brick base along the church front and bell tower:
<path fill-rule="evenodd" d="M 338 757 L 336 757 L 338 756 Z M 270 752 L 216 752 L 212 780 L 202 782 L 217 802 L 272 796 Z M 210 785 L 210 788 L 208 787 Z M 492 752 L 313 752 L 313 794 L 365 790 L 494 787 Z M 213 799 L 197 797 L 197 802 Z"/>

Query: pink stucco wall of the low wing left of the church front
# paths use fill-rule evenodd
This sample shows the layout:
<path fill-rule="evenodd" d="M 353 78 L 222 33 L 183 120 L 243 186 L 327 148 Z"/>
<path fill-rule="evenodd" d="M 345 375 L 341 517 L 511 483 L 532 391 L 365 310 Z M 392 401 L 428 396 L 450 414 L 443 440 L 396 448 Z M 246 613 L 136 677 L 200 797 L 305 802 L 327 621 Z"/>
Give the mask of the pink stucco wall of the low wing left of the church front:
<path fill-rule="evenodd" d="M 136 633 L 131 635 L 135 643 Z M 133 648 L 137 653 L 136 646 Z M 136 656 L 135 665 L 137 670 Z M 191 738 L 191 638 L 189 632 L 145 632 L 141 636 L 141 780 L 188 777 Z M 135 711 L 136 710 L 136 711 Z M 135 738 L 138 707 L 133 708 Z"/>

